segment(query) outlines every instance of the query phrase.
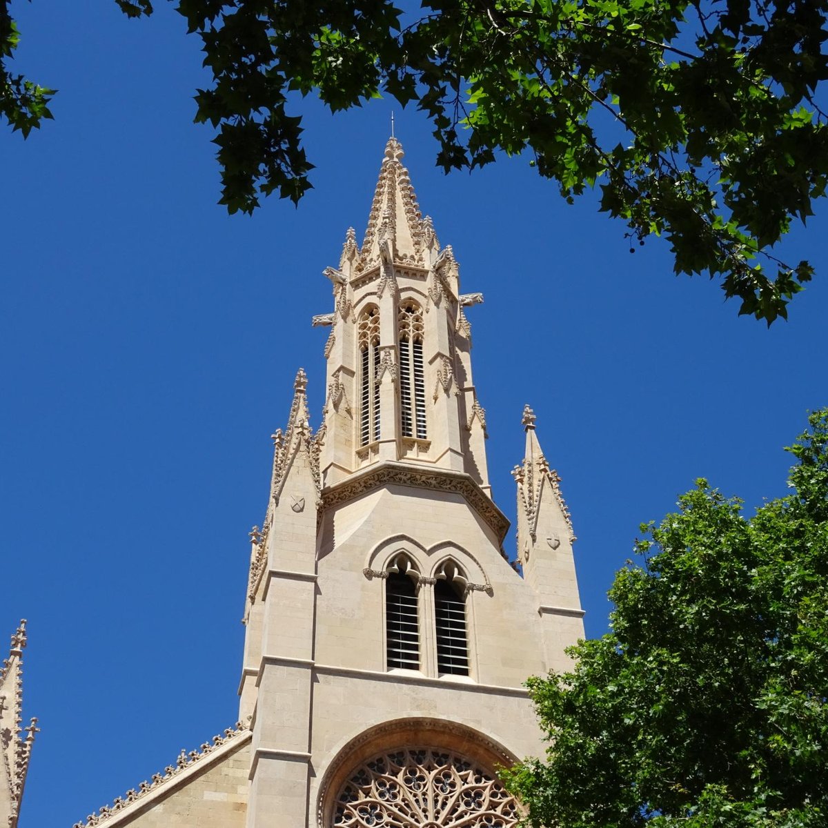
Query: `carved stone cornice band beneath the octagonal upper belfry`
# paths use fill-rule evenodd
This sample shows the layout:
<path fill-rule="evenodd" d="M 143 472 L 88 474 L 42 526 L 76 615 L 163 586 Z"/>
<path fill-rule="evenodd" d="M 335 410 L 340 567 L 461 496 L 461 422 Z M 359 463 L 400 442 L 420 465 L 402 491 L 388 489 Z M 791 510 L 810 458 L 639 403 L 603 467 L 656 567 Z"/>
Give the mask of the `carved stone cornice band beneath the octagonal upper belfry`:
<path fill-rule="evenodd" d="M 339 483 L 323 489 L 322 509 L 338 506 L 339 503 L 346 503 L 374 489 L 389 485 L 460 494 L 465 498 L 466 503 L 469 503 L 469 506 L 474 508 L 474 511 L 489 524 L 499 542 L 503 543 L 503 538 L 506 537 L 509 527 L 508 518 L 468 474 L 451 469 L 423 469 L 418 466 L 395 463 L 392 460 L 368 466 L 367 469 L 360 469 L 348 478 L 340 480 Z"/>

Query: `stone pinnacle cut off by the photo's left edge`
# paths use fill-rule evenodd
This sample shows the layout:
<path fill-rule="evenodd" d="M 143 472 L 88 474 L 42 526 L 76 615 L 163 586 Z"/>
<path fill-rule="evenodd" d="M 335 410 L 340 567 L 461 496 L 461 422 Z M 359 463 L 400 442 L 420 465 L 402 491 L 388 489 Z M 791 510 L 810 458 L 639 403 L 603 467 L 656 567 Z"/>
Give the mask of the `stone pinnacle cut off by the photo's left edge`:
<path fill-rule="evenodd" d="M 0 825 L 16 828 L 26 771 L 29 768 L 31 745 L 37 733 L 37 720 L 22 728 L 23 648 L 26 647 L 26 620 L 20 622 L 12 635 L 9 656 L 0 669 Z M 23 734 L 26 734 L 24 737 Z M 5 821 L 3 821 L 5 817 Z"/>

